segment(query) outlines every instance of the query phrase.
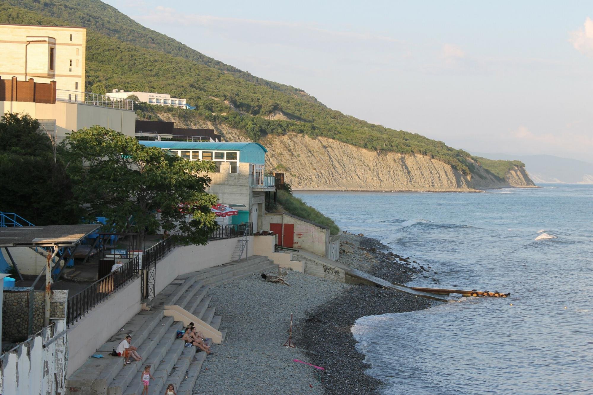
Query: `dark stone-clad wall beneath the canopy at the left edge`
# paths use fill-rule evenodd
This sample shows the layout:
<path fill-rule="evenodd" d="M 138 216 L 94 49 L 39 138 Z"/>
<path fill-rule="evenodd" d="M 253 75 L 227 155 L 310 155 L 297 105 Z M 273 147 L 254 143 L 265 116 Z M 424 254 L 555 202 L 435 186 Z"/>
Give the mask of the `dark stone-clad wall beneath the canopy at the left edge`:
<path fill-rule="evenodd" d="M 29 292 L 4 290 L 2 304 L 2 340 L 8 342 L 22 342 L 43 327 L 45 310 L 44 291 L 34 291 L 33 294 L 33 322 L 29 330 Z M 52 291 L 50 317 L 66 317 L 67 291 Z"/>

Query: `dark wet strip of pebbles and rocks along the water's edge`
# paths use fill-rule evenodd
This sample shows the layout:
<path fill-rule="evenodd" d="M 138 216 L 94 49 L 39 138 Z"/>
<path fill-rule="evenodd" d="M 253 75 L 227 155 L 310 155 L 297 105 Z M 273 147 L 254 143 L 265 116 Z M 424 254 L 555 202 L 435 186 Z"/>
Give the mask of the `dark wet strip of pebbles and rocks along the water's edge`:
<path fill-rule="evenodd" d="M 388 247 L 379 240 L 344 233 L 346 246 L 354 247 L 343 251 L 339 262 L 383 278 L 387 281 L 406 283 L 414 274 L 427 272 L 428 269 L 416 269 L 406 258 L 400 260 L 397 254 L 385 252 Z M 366 248 L 361 250 L 360 247 Z M 369 251 L 368 249 L 371 249 Z M 376 251 L 372 251 L 376 249 Z M 365 251 L 362 256 L 366 262 L 359 261 L 358 251 Z M 366 255 L 366 254 L 368 255 Z M 342 255 L 343 254 L 343 255 Z M 358 260 L 358 265 L 355 263 Z M 354 263 L 354 264 L 353 264 Z M 436 282 L 436 279 L 433 278 Z M 324 391 L 327 394 L 372 394 L 384 386 L 384 382 L 366 374 L 371 366 L 364 362 L 366 355 L 356 349 L 358 343 L 351 332 L 358 318 L 387 313 L 405 313 L 430 308 L 434 302 L 397 291 L 368 285 L 353 285 L 331 301 L 320 304 L 311 312 L 311 320 L 306 321 L 299 343 L 310 362 L 326 368 Z"/>

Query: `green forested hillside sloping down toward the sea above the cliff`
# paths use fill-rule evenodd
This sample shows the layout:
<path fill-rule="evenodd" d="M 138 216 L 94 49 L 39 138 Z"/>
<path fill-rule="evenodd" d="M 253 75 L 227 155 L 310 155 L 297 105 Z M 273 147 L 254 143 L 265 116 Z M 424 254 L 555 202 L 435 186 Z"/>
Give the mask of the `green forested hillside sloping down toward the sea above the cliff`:
<path fill-rule="evenodd" d="M 170 93 L 196 106 L 192 116 L 243 130 L 254 141 L 290 132 L 323 136 L 378 153 L 422 154 L 473 173 L 465 151 L 331 110 L 302 90 L 209 58 L 98 0 L 0 0 L 0 23 L 87 27 L 86 88 L 96 93 Z M 497 177 L 500 168 L 515 167 L 496 162 Z"/>

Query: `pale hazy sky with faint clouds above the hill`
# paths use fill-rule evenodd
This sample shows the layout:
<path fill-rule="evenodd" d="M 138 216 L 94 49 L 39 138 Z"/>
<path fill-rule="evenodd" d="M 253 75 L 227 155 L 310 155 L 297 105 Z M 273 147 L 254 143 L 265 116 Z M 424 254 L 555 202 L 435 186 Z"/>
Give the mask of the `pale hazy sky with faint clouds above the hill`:
<path fill-rule="evenodd" d="M 593 162 L 590 0 L 106 2 L 368 122 Z"/>

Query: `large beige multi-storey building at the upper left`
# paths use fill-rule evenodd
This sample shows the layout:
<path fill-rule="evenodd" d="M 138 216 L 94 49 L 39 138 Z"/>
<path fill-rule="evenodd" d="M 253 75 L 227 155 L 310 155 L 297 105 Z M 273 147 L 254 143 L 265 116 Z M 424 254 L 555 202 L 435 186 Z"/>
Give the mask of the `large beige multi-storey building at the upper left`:
<path fill-rule="evenodd" d="M 0 24 L 0 77 L 84 92 L 87 29 Z"/>

